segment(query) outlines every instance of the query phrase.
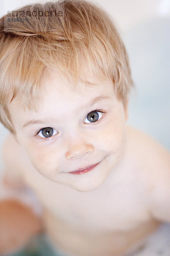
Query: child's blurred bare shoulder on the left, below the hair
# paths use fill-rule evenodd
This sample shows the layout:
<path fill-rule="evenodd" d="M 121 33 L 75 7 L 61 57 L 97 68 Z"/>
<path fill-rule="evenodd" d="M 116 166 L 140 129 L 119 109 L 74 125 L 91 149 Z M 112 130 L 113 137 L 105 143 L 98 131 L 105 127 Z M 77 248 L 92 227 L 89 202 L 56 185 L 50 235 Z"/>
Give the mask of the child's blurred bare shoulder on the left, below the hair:
<path fill-rule="evenodd" d="M 20 186 L 23 182 L 23 166 L 24 166 L 24 151 L 19 143 L 15 140 L 13 134 L 8 134 L 3 148 L 3 179 L 6 185 Z"/>

